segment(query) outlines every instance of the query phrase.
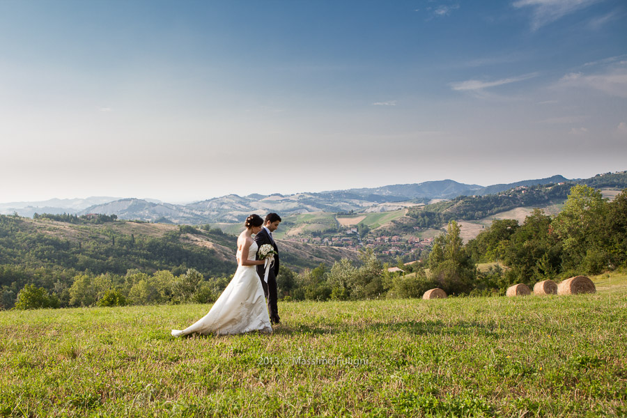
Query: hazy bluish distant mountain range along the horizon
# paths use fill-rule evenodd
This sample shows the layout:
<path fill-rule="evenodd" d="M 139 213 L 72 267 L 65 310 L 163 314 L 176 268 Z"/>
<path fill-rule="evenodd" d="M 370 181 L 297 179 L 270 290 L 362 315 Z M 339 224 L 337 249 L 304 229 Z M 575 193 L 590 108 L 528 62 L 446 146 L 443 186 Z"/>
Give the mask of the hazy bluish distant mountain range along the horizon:
<path fill-rule="evenodd" d="M 562 182 L 593 183 L 598 185 L 598 180 L 596 179 L 599 176 L 588 180 L 568 180 L 563 176 L 552 176 L 550 178 L 524 180 L 488 187 L 466 185 L 454 180 L 440 180 L 408 185 L 388 185 L 290 195 L 271 194 L 267 196 L 251 194 L 249 196 L 238 196 L 229 194 L 187 205 L 164 203 L 153 199 L 117 199 L 113 197 L 52 199 L 43 202 L 0 203 L 0 213 L 10 215 L 17 212 L 18 215 L 25 217 L 32 217 L 35 212 L 71 213 L 77 215 L 100 213 L 103 215 L 117 215 L 120 219 L 137 219 L 148 222 L 210 224 L 216 222 L 240 222 L 250 213 L 264 215 L 268 212 L 278 212 L 281 215 L 291 215 L 307 212 L 376 212 L 401 208 L 403 207 L 402 202 L 423 203 L 431 199 L 453 199 L 463 195 L 483 196 L 504 192 L 519 186 Z M 613 178 L 614 176 L 617 175 L 612 174 L 609 177 Z M 627 175 L 621 173 L 619 176 L 622 179 Z"/>

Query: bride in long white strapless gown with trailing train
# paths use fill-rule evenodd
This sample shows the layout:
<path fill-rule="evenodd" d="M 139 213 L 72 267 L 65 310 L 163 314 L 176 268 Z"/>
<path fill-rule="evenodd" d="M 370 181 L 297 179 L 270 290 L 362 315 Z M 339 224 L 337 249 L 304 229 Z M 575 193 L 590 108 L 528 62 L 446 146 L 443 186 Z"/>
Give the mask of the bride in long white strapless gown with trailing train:
<path fill-rule="evenodd" d="M 247 217 L 246 230 L 238 237 L 238 270 L 229 286 L 218 297 L 208 314 L 185 330 L 172 330 L 173 336 L 187 334 L 241 334 L 242 332 L 272 332 L 268 308 L 261 280 L 255 266 L 264 263 L 255 260 L 257 244 L 251 237 L 261 231 L 263 219 L 259 215 Z"/>

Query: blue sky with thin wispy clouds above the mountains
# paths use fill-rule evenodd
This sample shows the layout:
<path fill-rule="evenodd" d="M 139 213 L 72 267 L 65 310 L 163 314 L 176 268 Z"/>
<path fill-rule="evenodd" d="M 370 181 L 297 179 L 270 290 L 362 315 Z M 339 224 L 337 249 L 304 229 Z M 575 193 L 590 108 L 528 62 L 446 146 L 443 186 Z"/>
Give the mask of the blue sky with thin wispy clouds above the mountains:
<path fill-rule="evenodd" d="M 625 170 L 627 4 L 5 0 L 0 140 L 1 202 Z"/>

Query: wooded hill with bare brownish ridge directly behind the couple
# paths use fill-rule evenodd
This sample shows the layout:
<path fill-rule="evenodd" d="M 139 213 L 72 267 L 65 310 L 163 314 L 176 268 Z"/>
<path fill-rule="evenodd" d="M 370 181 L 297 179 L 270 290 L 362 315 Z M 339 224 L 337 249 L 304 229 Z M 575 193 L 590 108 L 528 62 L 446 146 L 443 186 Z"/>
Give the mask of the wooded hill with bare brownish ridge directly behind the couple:
<path fill-rule="evenodd" d="M 86 271 L 125 274 L 139 269 L 180 274 L 195 268 L 206 277 L 229 276 L 235 271 L 237 237 L 219 229 L 123 220 L 91 224 L 79 218 L 76 222 L 0 215 L 0 286 L 38 269 L 46 271 L 43 275 L 53 282 Z M 297 271 L 341 258 L 357 259 L 354 251 L 346 249 L 282 240 L 279 245 L 283 264 Z"/>

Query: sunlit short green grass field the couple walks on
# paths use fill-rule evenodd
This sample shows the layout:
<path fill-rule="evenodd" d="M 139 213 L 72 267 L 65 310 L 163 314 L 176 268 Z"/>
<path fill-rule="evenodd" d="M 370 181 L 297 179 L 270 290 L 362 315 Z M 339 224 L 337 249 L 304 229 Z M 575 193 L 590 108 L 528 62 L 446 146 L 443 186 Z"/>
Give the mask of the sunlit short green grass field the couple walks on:
<path fill-rule="evenodd" d="M 624 284 L 285 302 L 273 334 L 183 339 L 208 305 L 5 311 L 0 416 L 625 416 Z"/>

